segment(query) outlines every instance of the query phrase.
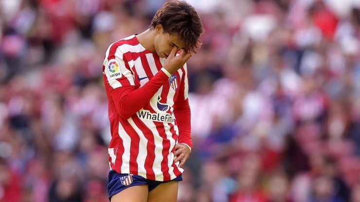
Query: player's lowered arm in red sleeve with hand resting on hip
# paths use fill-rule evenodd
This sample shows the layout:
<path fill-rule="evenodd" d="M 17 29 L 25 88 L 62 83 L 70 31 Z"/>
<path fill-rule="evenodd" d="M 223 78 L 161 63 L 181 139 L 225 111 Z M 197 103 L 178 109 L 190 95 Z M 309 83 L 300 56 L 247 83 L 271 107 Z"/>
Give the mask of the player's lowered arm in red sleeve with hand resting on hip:
<path fill-rule="evenodd" d="M 179 128 L 179 144 L 175 147 L 175 162 L 180 161 L 182 167 L 190 155 L 193 144 L 191 142 L 191 111 L 188 100 L 188 75 L 184 66 L 183 78 L 181 79 L 180 91 L 174 103 L 174 115 Z"/>

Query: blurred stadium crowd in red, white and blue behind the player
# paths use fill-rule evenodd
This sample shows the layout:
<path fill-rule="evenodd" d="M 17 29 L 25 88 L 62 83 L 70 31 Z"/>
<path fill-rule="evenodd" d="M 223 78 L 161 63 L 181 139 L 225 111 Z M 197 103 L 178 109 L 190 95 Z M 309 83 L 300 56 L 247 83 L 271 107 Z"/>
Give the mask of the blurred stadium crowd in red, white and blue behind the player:
<path fill-rule="evenodd" d="M 179 202 L 360 202 L 360 0 L 188 0 Z M 0 202 L 107 202 L 102 63 L 164 0 L 0 0 Z"/>

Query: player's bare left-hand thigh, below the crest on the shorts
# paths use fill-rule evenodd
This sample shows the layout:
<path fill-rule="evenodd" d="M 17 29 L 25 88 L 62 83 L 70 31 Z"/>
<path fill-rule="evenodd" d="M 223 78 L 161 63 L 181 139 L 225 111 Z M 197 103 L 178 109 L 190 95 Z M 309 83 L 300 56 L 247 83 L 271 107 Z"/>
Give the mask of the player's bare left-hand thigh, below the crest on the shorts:
<path fill-rule="evenodd" d="M 130 186 L 111 197 L 111 202 L 147 202 L 147 185 Z"/>

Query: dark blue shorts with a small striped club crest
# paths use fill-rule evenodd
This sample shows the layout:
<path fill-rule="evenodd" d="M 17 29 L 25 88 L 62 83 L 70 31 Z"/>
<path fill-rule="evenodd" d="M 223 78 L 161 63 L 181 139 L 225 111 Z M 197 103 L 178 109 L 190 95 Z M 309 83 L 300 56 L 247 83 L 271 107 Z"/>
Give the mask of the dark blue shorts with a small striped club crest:
<path fill-rule="evenodd" d="M 149 191 L 153 190 L 160 184 L 168 183 L 171 181 L 182 181 L 182 175 L 170 181 L 155 181 L 155 180 L 147 180 L 139 175 L 132 174 L 120 174 L 115 170 L 110 170 L 108 173 L 108 194 L 109 200 L 111 196 L 121 192 L 122 190 L 136 185 L 147 185 Z"/>

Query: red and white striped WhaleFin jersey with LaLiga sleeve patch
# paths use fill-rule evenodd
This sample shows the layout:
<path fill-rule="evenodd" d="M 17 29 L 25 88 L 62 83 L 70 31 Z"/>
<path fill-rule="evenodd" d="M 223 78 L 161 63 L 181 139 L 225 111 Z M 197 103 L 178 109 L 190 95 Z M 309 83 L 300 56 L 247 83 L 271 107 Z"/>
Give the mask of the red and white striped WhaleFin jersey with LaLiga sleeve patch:
<path fill-rule="evenodd" d="M 111 141 L 109 165 L 119 173 L 169 181 L 183 169 L 174 163 L 179 129 L 173 114 L 178 95 L 188 97 L 186 65 L 172 74 L 151 100 L 130 118 L 121 118 L 110 92 L 118 87 L 142 87 L 163 67 L 165 58 L 146 50 L 135 35 L 111 44 L 103 63 L 108 96 Z"/>

